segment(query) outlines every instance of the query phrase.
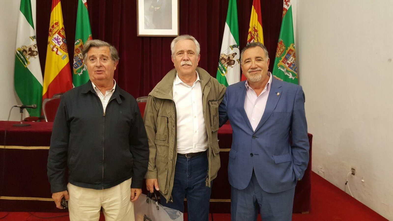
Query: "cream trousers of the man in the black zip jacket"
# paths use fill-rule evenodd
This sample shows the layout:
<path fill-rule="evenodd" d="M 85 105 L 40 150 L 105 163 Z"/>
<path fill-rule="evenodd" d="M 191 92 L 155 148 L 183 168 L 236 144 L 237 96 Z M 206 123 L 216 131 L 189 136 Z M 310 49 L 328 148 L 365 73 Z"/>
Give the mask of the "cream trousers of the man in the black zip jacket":
<path fill-rule="evenodd" d="M 134 204 L 130 201 L 131 179 L 104 190 L 82 188 L 68 183 L 70 220 L 99 220 L 101 207 L 105 220 L 134 221 Z"/>

